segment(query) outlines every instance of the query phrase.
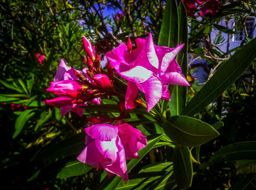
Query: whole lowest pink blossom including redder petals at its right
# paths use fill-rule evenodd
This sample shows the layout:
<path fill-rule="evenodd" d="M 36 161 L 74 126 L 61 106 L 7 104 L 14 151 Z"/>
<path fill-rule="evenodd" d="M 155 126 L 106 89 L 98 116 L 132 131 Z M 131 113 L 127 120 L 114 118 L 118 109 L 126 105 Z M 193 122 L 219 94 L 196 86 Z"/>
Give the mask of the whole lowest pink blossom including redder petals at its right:
<path fill-rule="evenodd" d="M 137 151 L 146 146 L 146 136 L 129 124 L 94 124 L 85 132 L 86 148 L 78 160 L 128 181 L 126 159 L 138 158 Z"/>

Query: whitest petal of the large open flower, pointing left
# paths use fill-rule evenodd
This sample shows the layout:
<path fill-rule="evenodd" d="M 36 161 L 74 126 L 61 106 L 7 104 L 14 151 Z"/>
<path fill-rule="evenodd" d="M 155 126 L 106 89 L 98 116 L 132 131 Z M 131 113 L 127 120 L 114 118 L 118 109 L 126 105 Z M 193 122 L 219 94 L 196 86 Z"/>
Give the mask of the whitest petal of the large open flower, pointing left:
<path fill-rule="evenodd" d="M 135 66 L 134 68 L 121 72 L 120 74 L 128 81 L 141 83 L 145 82 L 152 75 L 152 72 L 142 66 Z"/>

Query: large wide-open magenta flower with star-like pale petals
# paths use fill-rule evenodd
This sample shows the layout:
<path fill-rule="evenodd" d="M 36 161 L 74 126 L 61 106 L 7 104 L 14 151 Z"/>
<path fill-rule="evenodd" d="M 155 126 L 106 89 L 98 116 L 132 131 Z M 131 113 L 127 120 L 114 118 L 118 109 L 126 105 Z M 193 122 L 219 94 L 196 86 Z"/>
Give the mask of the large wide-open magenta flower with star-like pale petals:
<path fill-rule="evenodd" d="M 137 48 L 132 52 L 121 44 L 105 56 L 116 72 L 128 80 L 126 108 L 135 108 L 134 99 L 140 90 L 145 93 L 147 110 L 150 111 L 160 98 L 170 100 L 167 84 L 189 86 L 175 60 L 184 44 L 175 48 L 158 47 L 154 45 L 151 33 L 148 39 L 138 38 L 135 43 Z"/>

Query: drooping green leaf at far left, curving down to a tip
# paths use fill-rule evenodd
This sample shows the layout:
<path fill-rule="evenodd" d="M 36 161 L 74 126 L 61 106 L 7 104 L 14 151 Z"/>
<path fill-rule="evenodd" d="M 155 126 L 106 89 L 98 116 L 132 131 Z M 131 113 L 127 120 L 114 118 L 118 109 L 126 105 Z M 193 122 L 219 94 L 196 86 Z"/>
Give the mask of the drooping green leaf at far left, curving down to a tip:
<path fill-rule="evenodd" d="M 21 130 L 23 130 L 24 125 L 26 124 L 26 122 L 31 118 L 31 116 L 34 116 L 34 112 L 31 113 L 32 111 L 34 111 L 33 109 L 26 109 L 25 111 L 23 111 L 22 114 L 20 114 L 20 116 L 18 116 L 18 118 L 15 121 L 15 132 L 12 135 L 12 138 L 16 138 Z"/>

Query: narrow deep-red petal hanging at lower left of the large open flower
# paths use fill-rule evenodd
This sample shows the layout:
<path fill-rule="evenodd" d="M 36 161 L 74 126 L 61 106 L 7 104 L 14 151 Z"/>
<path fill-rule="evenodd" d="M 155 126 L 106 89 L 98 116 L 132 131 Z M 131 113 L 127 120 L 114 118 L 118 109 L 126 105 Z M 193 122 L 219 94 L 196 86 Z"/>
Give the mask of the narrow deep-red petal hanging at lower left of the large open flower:
<path fill-rule="evenodd" d="M 134 82 L 127 82 L 127 93 L 125 94 L 125 108 L 133 109 L 135 108 L 134 99 L 138 94 L 138 87 Z"/>

